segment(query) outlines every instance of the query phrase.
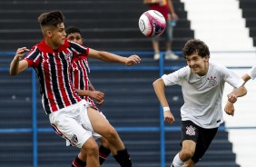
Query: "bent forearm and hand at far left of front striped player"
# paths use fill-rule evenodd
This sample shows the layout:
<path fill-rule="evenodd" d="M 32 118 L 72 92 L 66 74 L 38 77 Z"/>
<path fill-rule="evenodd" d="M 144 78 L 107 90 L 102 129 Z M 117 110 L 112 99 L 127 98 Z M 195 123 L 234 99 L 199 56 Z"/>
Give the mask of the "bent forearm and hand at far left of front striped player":
<path fill-rule="evenodd" d="M 28 68 L 28 63 L 25 60 L 21 60 L 25 52 L 28 52 L 28 51 L 29 49 L 27 49 L 26 47 L 21 47 L 17 49 L 15 58 L 10 64 L 11 75 L 20 74 L 21 72 L 25 71 L 26 68 Z"/>

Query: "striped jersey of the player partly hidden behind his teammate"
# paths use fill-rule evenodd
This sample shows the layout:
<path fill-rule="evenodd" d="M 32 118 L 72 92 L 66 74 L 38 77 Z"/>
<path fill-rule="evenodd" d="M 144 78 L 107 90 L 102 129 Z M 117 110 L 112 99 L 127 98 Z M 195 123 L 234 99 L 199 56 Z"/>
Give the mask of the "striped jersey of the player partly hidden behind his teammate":
<path fill-rule="evenodd" d="M 89 73 L 90 67 L 87 57 L 74 57 L 72 62 L 72 80 L 75 89 L 90 90 Z M 89 96 L 81 96 L 85 101 L 92 104 L 95 110 L 101 112 L 94 103 L 94 100 Z"/>

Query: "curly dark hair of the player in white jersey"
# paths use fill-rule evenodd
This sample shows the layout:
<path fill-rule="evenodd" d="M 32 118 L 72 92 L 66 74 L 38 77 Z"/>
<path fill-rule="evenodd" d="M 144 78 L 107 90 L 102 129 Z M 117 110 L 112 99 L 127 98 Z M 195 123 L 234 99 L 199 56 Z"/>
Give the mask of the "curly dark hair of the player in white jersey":
<path fill-rule="evenodd" d="M 199 39 L 189 40 L 182 48 L 183 57 L 186 58 L 188 55 L 198 54 L 201 57 L 209 56 L 210 51 L 206 44 Z"/>

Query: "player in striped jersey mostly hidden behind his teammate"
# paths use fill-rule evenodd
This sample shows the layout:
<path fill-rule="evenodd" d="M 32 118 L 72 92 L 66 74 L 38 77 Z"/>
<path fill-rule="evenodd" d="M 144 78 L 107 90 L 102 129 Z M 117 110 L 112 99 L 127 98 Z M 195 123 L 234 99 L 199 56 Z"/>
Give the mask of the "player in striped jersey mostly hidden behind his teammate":
<path fill-rule="evenodd" d="M 84 38 L 82 37 L 79 28 L 69 26 L 65 29 L 65 33 L 68 40 L 81 45 L 84 43 Z M 84 57 L 80 59 L 73 59 L 72 67 L 72 78 L 76 92 L 81 96 L 81 98 L 84 98 L 89 103 L 92 103 L 94 109 L 101 113 L 98 107 L 94 104 L 94 100 L 99 105 L 102 105 L 104 100 L 104 93 L 96 91 L 93 84 L 89 80 L 90 67 L 87 58 Z M 99 148 L 100 164 L 102 165 L 111 151 L 109 150 L 106 139 L 97 133 L 94 134 L 94 136 L 95 138 L 99 138 L 100 142 L 102 142 L 102 145 Z"/>

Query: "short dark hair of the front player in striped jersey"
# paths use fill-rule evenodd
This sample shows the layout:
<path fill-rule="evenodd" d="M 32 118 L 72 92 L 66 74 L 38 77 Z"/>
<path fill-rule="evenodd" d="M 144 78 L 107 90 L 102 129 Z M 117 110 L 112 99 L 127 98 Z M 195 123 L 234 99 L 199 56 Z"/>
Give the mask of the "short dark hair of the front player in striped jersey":
<path fill-rule="evenodd" d="M 41 26 L 45 25 L 60 25 L 64 23 L 64 15 L 60 11 L 52 11 L 39 15 L 38 22 Z"/>

